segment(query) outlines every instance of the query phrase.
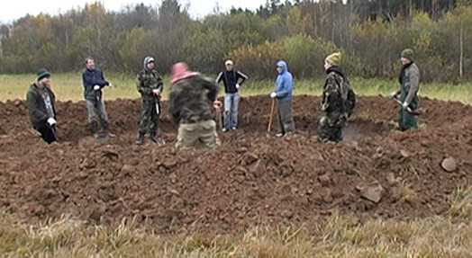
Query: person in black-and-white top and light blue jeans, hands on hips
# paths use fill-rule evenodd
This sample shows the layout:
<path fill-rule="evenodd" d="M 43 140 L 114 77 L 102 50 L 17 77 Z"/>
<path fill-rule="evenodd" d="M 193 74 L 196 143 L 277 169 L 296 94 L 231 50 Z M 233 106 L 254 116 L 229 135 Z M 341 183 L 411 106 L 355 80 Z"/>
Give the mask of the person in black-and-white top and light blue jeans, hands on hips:
<path fill-rule="evenodd" d="M 238 109 L 240 104 L 240 86 L 248 79 L 240 71 L 234 70 L 232 61 L 224 63 L 225 70 L 216 77 L 216 84 L 224 84 L 224 112 L 222 131 L 238 128 Z"/>

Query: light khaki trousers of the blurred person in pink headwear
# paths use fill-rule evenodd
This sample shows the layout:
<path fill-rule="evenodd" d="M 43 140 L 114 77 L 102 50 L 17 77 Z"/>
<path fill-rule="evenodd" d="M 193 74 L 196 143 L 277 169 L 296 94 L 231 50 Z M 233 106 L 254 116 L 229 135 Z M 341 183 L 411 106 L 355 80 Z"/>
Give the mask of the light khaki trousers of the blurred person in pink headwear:
<path fill-rule="evenodd" d="M 188 150 L 197 144 L 206 148 L 220 146 L 214 120 L 203 120 L 178 126 L 177 149 Z"/>

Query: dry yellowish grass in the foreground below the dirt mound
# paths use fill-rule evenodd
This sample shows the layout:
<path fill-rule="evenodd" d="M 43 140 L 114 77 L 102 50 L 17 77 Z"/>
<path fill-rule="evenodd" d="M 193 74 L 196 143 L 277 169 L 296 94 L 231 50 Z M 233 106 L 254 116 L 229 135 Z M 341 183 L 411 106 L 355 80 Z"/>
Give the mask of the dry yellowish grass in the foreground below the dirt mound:
<path fill-rule="evenodd" d="M 412 222 L 334 215 L 308 234 L 305 227 L 254 227 L 238 236 L 158 236 L 123 221 L 91 227 L 72 218 L 40 226 L 4 214 L 0 257 L 472 257 L 472 225 L 448 218 Z"/>

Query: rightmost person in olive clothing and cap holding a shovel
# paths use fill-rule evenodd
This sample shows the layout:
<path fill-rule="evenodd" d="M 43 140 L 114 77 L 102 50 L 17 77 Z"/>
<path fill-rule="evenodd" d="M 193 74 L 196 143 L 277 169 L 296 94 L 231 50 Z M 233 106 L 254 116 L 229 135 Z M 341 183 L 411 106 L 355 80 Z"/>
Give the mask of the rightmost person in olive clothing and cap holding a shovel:
<path fill-rule="evenodd" d="M 391 98 L 400 94 L 402 107 L 398 111 L 398 126 L 400 130 L 418 129 L 418 122 L 414 114 L 409 111 L 418 109 L 418 89 L 420 88 L 420 69 L 413 62 L 413 50 L 404 49 L 400 56 L 402 71 L 398 77 L 400 89 L 390 93 Z M 408 109 L 409 108 L 409 109 Z"/>

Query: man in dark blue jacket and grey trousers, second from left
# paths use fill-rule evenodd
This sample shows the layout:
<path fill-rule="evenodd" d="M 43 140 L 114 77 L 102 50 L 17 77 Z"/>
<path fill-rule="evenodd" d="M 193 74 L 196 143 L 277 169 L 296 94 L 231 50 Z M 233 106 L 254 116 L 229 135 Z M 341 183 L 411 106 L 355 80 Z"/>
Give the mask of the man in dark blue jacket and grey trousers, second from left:
<path fill-rule="evenodd" d="M 104 80 L 104 74 L 100 69 L 95 68 L 94 59 L 86 58 L 85 65 L 82 82 L 84 84 L 88 123 L 92 129 L 92 134 L 94 138 L 98 138 L 98 126 L 95 120 L 96 111 L 98 112 L 100 125 L 105 132 L 105 138 L 113 138 L 115 135 L 108 129 L 108 116 L 106 115 L 102 93 L 104 86 L 111 87 L 112 84 Z"/>

